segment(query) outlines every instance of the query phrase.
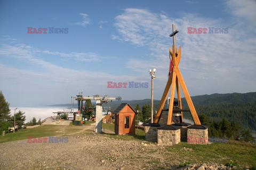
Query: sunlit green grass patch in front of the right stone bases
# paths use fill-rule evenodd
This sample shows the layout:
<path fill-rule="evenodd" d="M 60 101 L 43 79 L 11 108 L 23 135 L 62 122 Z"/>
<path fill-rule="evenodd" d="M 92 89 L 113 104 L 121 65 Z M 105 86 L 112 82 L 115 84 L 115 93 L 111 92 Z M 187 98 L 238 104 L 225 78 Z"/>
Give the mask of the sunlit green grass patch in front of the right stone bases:
<path fill-rule="evenodd" d="M 193 150 L 183 149 L 191 148 Z M 236 165 L 256 165 L 256 145 L 247 142 L 229 140 L 228 143 L 212 143 L 207 145 L 181 142 L 166 148 L 178 156 L 181 162 L 191 163 L 217 163 L 226 165 L 230 160 Z"/>

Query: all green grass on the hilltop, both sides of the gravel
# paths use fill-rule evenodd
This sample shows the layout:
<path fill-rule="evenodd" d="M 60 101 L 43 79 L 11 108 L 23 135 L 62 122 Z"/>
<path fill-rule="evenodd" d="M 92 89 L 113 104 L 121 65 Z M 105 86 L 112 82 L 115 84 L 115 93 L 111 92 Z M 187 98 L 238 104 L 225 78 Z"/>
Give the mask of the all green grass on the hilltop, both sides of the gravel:
<path fill-rule="evenodd" d="M 86 122 L 87 123 L 87 122 Z M 93 123 L 93 122 L 92 122 Z M 56 126 L 56 125 L 42 125 L 35 128 L 28 128 L 25 131 L 18 131 L 9 133 L 5 136 L 0 136 L 0 143 L 27 139 L 27 136 L 43 137 L 43 136 L 62 136 L 63 128 L 65 128 L 65 135 L 73 134 L 81 131 L 85 126 L 90 126 L 89 123 L 83 126 Z M 114 131 L 114 124 L 102 124 L 102 128 Z M 145 132 L 141 129 L 135 130 L 135 135 L 115 135 L 102 133 L 99 135 L 108 136 L 115 139 L 122 140 L 136 140 L 144 143 L 151 143 L 145 141 Z M 81 134 L 91 133 L 84 131 Z M 154 143 L 156 144 L 156 143 Z M 164 149 L 159 148 L 153 152 L 162 152 L 165 157 L 175 157 L 180 161 L 181 165 L 187 163 L 218 163 L 227 164 L 233 161 L 235 165 L 256 167 L 256 145 L 248 142 L 239 142 L 229 140 L 228 143 L 212 143 L 207 145 L 189 144 L 187 142 L 180 142 L 179 144 Z"/>

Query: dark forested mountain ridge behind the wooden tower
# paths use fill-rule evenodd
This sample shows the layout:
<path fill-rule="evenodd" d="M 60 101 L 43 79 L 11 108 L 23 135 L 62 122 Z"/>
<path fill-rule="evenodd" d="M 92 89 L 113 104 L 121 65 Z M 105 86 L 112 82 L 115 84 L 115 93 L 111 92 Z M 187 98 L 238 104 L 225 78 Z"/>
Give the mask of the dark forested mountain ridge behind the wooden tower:
<path fill-rule="evenodd" d="M 205 114 L 211 120 L 219 121 L 227 118 L 230 122 L 238 122 L 243 128 L 250 128 L 256 131 L 256 92 L 250 93 L 227 93 L 191 96 L 197 114 Z M 92 101 L 95 104 L 94 101 Z M 133 108 L 139 104 L 140 108 L 144 104 L 150 104 L 151 99 L 143 100 L 123 100 L 111 101 L 109 104 L 103 104 L 103 107 L 111 107 L 111 110 L 117 108 L 121 103 L 130 103 Z M 154 100 L 154 110 L 157 110 L 160 100 Z M 70 107 L 70 104 L 54 104 L 51 107 Z M 74 104 L 77 108 L 77 104 Z M 167 108 L 167 102 L 165 107 Z M 182 108 L 188 108 L 185 98 L 182 98 Z M 186 114 L 187 116 L 189 114 Z M 188 117 L 189 118 L 189 117 Z"/>

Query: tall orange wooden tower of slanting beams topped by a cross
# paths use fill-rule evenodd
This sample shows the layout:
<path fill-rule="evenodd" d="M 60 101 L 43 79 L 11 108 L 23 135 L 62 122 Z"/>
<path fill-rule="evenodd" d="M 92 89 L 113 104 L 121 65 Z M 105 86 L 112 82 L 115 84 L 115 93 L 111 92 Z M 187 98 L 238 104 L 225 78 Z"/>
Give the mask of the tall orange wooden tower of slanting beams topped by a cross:
<path fill-rule="evenodd" d="M 168 118 L 167 118 L 167 125 L 172 124 L 172 115 L 173 115 L 173 101 L 174 101 L 174 93 L 175 93 L 175 87 L 177 90 L 177 98 L 180 103 L 180 112 L 181 112 L 181 122 L 183 122 L 183 113 L 182 113 L 182 106 L 181 106 L 181 96 L 180 96 L 180 87 L 181 90 L 185 96 L 185 99 L 188 103 L 189 111 L 191 113 L 191 116 L 194 120 L 195 125 L 201 125 L 200 120 L 197 116 L 196 109 L 194 107 L 194 104 L 190 98 L 190 95 L 188 93 L 187 86 L 183 80 L 183 77 L 181 75 L 180 69 L 179 69 L 179 62 L 181 59 L 181 47 L 179 46 L 179 50 L 177 51 L 176 48 L 176 35 L 179 30 L 175 30 L 175 25 L 173 23 L 172 25 L 172 31 L 173 33 L 170 35 L 170 37 L 173 37 L 173 45 L 172 49 L 169 48 L 169 53 L 170 53 L 170 72 L 169 72 L 169 78 L 167 80 L 164 93 L 161 99 L 161 102 L 158 106 L 156 116 L 154 118 L 154 123 L 158 123 L 161 115 L 162 115 L 162 110 L 164 108 L 164 103 L 167 99 L 167 95 L 169 91 L 171 90 L 171 96 L 170 96 L 170 104 L 169 104 L 169 112 L 168 112 Z M 171 68 L 172 67 L 172 68 Z"/>

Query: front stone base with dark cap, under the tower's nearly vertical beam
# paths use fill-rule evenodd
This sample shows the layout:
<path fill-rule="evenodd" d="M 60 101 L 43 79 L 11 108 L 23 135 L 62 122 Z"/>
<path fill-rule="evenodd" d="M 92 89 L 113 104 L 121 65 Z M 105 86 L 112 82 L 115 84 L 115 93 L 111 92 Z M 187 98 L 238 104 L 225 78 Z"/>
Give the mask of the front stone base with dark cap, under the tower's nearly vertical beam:
<path fill-rule="evenodd" d="M 180 127 L 174 125 L 158 127 L 157 143 L 169 146 L 180 143 Z"/>

